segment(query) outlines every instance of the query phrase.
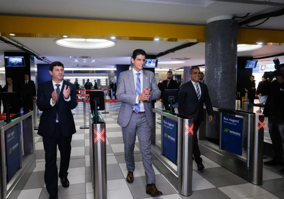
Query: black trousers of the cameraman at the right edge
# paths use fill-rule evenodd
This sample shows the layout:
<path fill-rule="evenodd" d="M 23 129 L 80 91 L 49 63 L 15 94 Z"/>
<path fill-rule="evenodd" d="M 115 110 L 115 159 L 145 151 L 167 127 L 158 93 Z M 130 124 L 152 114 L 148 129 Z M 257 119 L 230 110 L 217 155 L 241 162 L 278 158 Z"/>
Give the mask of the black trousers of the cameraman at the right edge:
<path fill-rule="evenodd" d="M 274 159 L 283 162 L 284 118 L 269 115 L 268 128 L 274 151 Z"/>

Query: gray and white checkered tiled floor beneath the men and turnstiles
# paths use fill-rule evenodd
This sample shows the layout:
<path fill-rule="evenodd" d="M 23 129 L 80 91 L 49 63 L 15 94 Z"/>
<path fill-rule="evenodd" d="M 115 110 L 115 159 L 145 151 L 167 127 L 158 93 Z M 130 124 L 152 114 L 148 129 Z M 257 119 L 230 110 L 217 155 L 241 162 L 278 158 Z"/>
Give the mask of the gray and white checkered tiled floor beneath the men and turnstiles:
<path fill-rule="evenodd" d="M 159 102 L 156 103 L 160 107 Z M 264 183 L 256 186 L 248 183 L 239 176 L 221 167 L 207 157 L 202 157 L 205 168 L 196 170 L 193 163 L 193 180 L 191 197 L 183 197 L 168 183 L 155 169 L 156 186 L 163 192 L 163 196 L 151 198 L 145 193 L 145 174 L 138 141 L 135 147 L 136 170 L 135 181 L 128 184 L 124 160 L 124 144 L 121 127 L 116 120 L 120 103 L 107 103 L 108 114 L 103 114 L 107 124 L 107 180 L 108 199 L 284 199 L 284 175 L 278 170 L 281 167 L 264 166 Z M 63 188 L 58 182 L 59 199 L 93 199 L 93 189 L 89 160 L 89 129 L 80 129 L 83 125 L 83 104 L 79 103 L 73 110 L 77 133 L 72 138 L 72 152 L 68 179 L 69 188 Z M 158 115 L 157 115 L 158 117 Z M 88 121 L 88 118 L 87 118 Z M 160 126 L 156 124 L 156 133 L 160 134 Z M 43 174 L 44 150 L 42 138 L 35 131 L 36 168 L 30 176 L 18 199 L 48 199 Z M 157 136 L 157 140 L 160 136 Z M 57 153 L 58 160 L 60 154 Z M 59 163 L 59 161 L 57 162 Z"/>

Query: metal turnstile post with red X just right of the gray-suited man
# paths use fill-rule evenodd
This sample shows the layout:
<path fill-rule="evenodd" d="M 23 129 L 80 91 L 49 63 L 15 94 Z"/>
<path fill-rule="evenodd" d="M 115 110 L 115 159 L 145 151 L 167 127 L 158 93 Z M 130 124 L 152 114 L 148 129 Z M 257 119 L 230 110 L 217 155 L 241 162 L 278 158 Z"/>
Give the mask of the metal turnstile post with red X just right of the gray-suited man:
<path fill-rule="evenodd" d="M 179 115 L 180 116 L 180 115 Z M 192 139 L 193 119 L 178 118 L 178 192 L 183 196 L 192 195 Z"/>

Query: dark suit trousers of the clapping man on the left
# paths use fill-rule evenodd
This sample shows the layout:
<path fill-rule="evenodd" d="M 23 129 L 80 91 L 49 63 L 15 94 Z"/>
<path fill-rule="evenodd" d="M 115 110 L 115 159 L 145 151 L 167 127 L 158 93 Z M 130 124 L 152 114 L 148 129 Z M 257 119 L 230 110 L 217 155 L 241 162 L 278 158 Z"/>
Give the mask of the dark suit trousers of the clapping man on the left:
<path fill-rule="evenodd" d="M 71 140 L 72 135 L 69 137 L 63 137 L 61 135 L 59 124 L 55 125 L 54 133 L 50 138 L 42 137 L 45 151 L 44 182 L 46 190 L 51 197 L 57 196 L 58 194 L 58 171 L 56 165 L 57 144 L 60 151 L 59 178 L 66 178 L 70 162 Z"/>

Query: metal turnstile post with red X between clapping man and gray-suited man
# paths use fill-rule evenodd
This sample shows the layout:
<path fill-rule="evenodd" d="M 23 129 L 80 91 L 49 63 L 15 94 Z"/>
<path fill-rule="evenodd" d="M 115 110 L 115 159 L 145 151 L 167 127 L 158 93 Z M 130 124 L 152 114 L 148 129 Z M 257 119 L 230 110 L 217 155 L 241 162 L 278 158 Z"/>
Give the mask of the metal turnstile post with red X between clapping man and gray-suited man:
<path fill-rule="evenodd" d="M 91 124 L 90 165 L 94 199 L 107 199 L 106 122 L 99 121 L 98 123 L 92 122 Z"/>

